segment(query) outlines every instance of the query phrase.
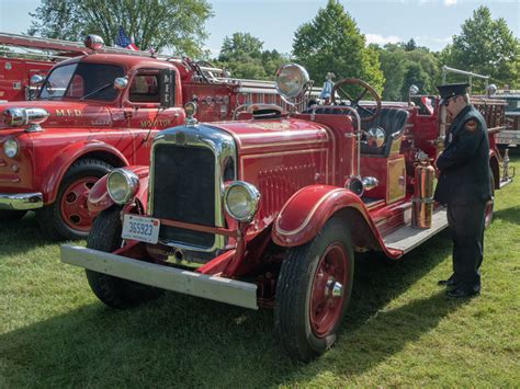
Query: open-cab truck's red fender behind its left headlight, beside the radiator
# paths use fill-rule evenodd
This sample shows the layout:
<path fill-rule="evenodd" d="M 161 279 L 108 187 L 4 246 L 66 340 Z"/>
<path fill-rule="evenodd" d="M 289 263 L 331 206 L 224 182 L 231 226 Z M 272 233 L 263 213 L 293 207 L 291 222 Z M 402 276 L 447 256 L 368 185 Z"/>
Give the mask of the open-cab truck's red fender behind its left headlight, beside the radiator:
<path fill-rule="evenodd" d="M 148 203 L 148 174 L 149 168 L 143 165 L 125 167 L 126 170 L 134 172 L 139 179 L 139 184 L 137 186 L 137 192 L 135 195 L 123 206 L 125 210 L 128 206 L 132 207 L 134 201 L 138 201 L 143 206 L 143 209 L 146 209 Z M 92 186 L 89 193 L 89 199 L 87 205 L 91 214 L 99 214 L 100 211 L 110 208 L 114 205 L 114 201 L 110 197 L 109 191 L 106 190 L 106 180 L 109 174 L 103 175 L 95 184 Z"/>

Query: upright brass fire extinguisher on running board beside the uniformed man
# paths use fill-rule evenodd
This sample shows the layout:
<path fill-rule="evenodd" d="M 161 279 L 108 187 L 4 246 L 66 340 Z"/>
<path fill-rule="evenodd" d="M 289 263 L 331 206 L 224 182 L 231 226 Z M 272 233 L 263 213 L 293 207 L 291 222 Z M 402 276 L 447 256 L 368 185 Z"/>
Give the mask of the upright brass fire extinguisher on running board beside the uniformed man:
<path fill-rule="evenodd" d="M 433 214 L 433 183 L 436 180 L 436 169 L 430 164 L 428 155 L 419 151 L 416 155 L 415 188 L 411 198 L 411 227 L 430 228 L 431 216 Z"/>

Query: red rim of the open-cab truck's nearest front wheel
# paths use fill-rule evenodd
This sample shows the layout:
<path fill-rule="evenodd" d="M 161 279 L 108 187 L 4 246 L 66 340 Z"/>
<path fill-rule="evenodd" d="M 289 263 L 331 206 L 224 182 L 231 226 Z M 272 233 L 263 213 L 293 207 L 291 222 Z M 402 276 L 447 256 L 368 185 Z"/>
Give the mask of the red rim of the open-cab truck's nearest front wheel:
<path fill-rule="evenodd" d="M 330 244 L 319 259 L 309 305 L 310 328 L 318 337 L 328 335 L 340 319 L 347 288 L 347 254 L 340 243 Z M 335 296 L 335 290 L 340 290 L 340 296 Z"/>

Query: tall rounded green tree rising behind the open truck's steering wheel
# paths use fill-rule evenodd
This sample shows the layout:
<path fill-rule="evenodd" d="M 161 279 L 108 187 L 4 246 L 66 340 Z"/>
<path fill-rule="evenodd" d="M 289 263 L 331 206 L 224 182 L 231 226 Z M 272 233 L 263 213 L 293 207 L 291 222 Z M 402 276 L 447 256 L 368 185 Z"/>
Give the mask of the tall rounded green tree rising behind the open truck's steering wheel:
<path fill-rule="evenodd" d="M 337 80 L 360 78 L 377 91 L 383 88 L 377 52 L 365 47 L 364 35 L 338 0 L 329 0 L 313 21 L 297 28 L 293 56 L 314 80 L 325 80 L 332 71 Z"/>

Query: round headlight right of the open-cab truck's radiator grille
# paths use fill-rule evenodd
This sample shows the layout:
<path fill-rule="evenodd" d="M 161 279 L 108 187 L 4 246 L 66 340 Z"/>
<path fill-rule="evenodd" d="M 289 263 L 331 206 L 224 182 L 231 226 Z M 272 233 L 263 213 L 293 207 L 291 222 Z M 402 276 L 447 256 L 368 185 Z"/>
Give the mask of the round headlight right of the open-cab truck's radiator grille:
<path fill-rule="evenodd" d="M 236 181 L 224 192 L 224 206 L 227 213 L 238 221 L 251 221 L 260 204 L 260 192 L 255 185 Z"/>

